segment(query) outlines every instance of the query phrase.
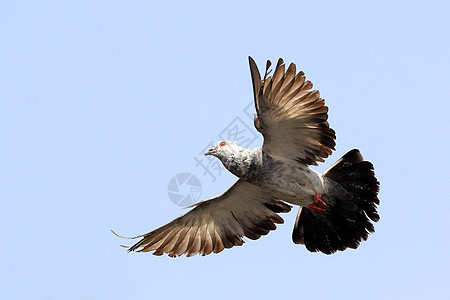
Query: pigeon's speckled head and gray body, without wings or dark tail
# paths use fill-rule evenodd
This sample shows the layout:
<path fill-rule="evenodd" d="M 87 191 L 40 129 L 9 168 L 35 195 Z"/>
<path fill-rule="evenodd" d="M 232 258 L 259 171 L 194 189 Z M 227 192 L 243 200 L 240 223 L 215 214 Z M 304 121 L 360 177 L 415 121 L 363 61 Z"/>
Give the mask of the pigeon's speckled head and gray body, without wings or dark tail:
<path fill-rule="evenodd" d="M 225 143 L 224 146 L 221 146 Z M 323 177 L 306 164 L 277 160 L 262 147 L 244 148 L 236 142 L 222 141 L 210 150 L 231 173 L 256 186 L 270 191 L 277 199 L 307 206 L 318 193 L 325 199 L 348 199 L 351 195 L 337 182 Z"/>

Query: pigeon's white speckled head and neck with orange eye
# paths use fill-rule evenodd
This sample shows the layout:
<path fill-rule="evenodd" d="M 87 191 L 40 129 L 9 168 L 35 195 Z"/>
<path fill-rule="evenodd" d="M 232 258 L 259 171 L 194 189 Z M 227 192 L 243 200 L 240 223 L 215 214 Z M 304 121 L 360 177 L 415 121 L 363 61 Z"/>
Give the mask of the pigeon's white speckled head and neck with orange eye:
<path fill-rule="evenodd" d="M 209 149 L 205 155 L 217 157 L 228 171 L 242 178 L 251 167 L 253 150 L 238 146 L 236 141 L 220 141 Z"/>

